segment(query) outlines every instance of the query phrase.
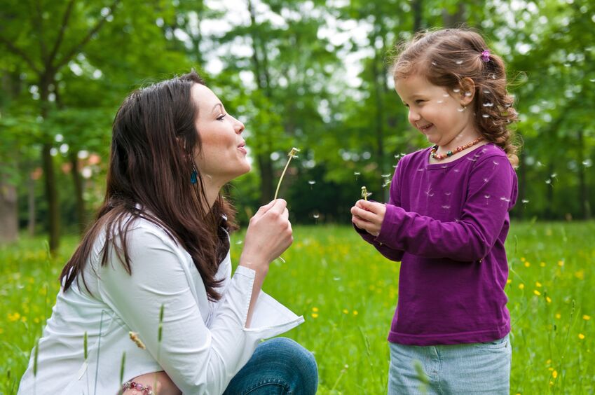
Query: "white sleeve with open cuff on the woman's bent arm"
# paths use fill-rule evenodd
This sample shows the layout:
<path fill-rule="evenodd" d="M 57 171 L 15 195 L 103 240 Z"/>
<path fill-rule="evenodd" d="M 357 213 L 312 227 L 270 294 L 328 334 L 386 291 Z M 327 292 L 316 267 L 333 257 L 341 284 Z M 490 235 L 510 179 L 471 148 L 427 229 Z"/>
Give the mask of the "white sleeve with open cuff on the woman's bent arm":
<path fill-rule="evenodd" d="M 131 331 L 139 333 L 146 349 L 182 393 L 222 394 L 262 338 L 287 331 L 301 324 L 303 318 L 276 300 L 259 296 L 257 305 L 261 299 L 269 303 L 270 298 L 276 309 L 289 314 L 285 312 L 281 320 L 266 328 L 244 328 L 255 273 L 240 266 L 207 328 L 184 270 L 184 258 L 164 237 L 146 228 L 130 230 L 132 275 L 111 249 L 108 265 L 100 269 L 100 295 Z M 159 343 L 161 305 L 165 314 Z"/>

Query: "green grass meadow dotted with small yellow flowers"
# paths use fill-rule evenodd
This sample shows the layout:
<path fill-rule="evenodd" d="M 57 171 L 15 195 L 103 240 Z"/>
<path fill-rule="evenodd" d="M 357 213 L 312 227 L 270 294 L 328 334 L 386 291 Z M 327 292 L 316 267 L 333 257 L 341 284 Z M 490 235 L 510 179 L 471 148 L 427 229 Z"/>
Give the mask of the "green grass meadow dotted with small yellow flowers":
<path fill-rule="evenodd" d="M 385 393 L 399 265 L 346 226 L 296 226 L 294 240 L 264 289 L 306 318 L 287 335 L 315 353 L 319 393 Z M 41 239 L 0 247 L 0 394 L 15 393 L 49 317 L 76 240 L 62 244 L 53 259 Z M 595 223 L 513 223 L 507 251 L 511 393 L 593 394 Z"/>

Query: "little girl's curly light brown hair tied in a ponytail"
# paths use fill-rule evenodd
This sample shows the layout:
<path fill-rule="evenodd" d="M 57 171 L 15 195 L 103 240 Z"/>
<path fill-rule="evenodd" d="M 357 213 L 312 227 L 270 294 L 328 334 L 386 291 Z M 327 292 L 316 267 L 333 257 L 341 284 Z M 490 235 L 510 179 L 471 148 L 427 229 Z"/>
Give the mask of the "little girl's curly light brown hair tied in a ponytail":
<path fill-rule="evenodd" d="M 500 146 L 516 166 L 518 147 L 509 127 L 518 118 L 512 106 L 514 98 L 507 91 L 505 64 L 494 53 L 485 62 L 484 50 L 488 50 L 486 41 L 470 29 L 420 32 L 397 46 L 392 76 L 397 79 L 415 74 L 449 90 L 474 90 L 471 111 L 477 130 L 486 141 Z M 473 86 L 467 86 L 465 78 L 470 78 Z"/>

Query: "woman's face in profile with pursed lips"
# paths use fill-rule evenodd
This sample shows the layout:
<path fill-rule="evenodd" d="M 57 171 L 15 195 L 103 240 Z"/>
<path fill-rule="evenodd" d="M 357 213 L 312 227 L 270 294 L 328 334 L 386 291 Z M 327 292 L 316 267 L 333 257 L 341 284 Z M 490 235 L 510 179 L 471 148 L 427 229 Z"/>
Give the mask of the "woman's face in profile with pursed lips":
<path fill-rule="evenodd" d="M 219 186 L 250 171 L 242 138 L 244 124 L 226 113 L 219 98 L 205 85 L 191 88 L 198 107 L 196 130 L 202 141 L 194 153 L 198 171 Z"/>

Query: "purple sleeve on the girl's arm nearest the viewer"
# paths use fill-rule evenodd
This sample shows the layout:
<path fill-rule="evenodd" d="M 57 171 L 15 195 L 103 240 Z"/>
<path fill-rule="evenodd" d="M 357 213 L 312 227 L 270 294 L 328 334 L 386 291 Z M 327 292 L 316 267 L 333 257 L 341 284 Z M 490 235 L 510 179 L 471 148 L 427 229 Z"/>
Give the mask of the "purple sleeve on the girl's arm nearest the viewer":
<path fill-rule="evenodd" d="M 470 171 L 458 221 L 437 221 L 406 212 L 397 205 L 387 205 L 376 242 L 425 258 L 463 262 L 484 258 L 498 239 L 507 212 L 517 199 L 516 175 L 504 156 L 484 158 Z M 486 204 L 490 198 L 495 204 Z"/>

